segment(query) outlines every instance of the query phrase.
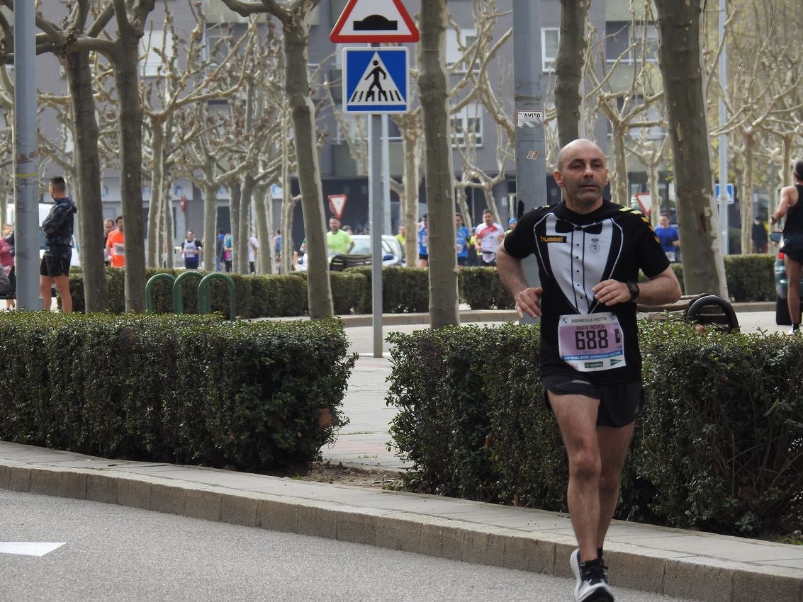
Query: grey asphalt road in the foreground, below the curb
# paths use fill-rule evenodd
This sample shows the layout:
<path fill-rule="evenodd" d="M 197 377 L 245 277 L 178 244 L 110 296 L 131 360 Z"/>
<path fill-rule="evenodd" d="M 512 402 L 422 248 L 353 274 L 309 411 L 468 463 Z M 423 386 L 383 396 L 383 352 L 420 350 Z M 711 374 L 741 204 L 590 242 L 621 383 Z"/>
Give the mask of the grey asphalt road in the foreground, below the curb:
<path fill-rule="evenodd" d="M 573 580 L 10 491 L 0 491 L 0 539 L 63 543 L 41 557 L 0 553 L 4 602 L 573 600 Z"/>

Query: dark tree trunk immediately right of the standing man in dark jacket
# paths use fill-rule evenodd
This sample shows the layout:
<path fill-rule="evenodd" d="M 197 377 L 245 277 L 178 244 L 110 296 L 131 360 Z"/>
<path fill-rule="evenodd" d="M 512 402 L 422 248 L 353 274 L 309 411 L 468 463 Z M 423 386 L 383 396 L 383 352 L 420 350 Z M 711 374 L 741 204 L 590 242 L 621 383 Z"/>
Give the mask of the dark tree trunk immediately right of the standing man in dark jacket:
<path fill-rule="evenodd" d="M 78 171 L 79 212 L 81 225 L 81 266 L 84 267 L 84 303 L 86 311 L 105 311 L 108 292 L 103 265 L 103 205 L 100 200 L 100 159 L 98 157 L 98 124 L 92 90 L 89 51 L 67 55 L 67 78 L 75 132 L 75 165 Z M 2 216 L 5 219 L 5 208 Z"/>

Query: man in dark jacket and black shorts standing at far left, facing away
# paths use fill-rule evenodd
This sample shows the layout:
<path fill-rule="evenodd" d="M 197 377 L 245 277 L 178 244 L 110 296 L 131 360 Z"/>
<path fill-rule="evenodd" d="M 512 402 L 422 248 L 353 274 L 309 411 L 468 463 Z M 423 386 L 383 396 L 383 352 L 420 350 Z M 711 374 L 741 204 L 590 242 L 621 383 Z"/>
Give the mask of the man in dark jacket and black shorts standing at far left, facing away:
<path fill-rule="evenodd" d="M 42 294 L 43 308 L 51 307 L 51 287 L 61 295 L 61 310 L 66 314 L 72 311 L 70 295 L 70 259 L 72 258 L 73 215 L 77 213 L 75 203 L 67 197 L 67 185 L 61 176 L 52 177 L 50 193 L 53 208 L 42 222 L 45 234 L 45 254 L 39 266 L 39 292 Z"/>

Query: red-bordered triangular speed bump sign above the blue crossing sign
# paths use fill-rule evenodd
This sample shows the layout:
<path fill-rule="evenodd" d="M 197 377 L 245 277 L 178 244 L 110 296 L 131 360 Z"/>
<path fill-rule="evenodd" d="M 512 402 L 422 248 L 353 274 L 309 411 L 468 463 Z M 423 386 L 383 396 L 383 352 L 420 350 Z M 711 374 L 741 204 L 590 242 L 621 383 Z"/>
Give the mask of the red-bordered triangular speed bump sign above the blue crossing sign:
<path fill-rule="evenodd" d="M 329 39 L 341 42 L 418 42 L 418 29 L 402 0 L 349 0 Z"/>

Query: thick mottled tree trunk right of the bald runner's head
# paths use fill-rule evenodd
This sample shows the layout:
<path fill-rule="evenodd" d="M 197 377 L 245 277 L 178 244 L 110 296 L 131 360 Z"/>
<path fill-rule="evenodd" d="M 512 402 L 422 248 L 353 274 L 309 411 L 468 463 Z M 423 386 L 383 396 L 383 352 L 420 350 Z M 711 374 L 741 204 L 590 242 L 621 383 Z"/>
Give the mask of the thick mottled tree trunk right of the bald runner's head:
<path fill-rule="evenodd" d="M 700 55 L 703 0 L 655 0 L 666 111 L 675 161 L 683 283 L 688 294 L 728 298 L 708 142 Z"/>

